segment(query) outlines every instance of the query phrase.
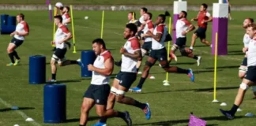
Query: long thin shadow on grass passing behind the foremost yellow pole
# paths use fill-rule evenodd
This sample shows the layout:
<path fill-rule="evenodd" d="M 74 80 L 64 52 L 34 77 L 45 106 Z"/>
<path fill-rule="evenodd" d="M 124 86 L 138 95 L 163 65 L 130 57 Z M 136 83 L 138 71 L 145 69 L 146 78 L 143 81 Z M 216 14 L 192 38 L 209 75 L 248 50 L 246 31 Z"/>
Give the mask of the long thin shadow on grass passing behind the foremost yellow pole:
<path fill-rule="evenodd" d="M 232 90 L 238 89 L 239 87 L 216 87 L 216 90 Z M 174 90 L 174 91 L 154 91 L 154 92 L 142 92 L 141 94 L 154 94 L 154 93 L 169 93 L 169 92 L 177 92 L 177 91 L 195 91 L 195 92 L 213 92 L 213 87 L 211 88 L 201 88 L 201 89 L 182 89 L 182 90 Z"/>

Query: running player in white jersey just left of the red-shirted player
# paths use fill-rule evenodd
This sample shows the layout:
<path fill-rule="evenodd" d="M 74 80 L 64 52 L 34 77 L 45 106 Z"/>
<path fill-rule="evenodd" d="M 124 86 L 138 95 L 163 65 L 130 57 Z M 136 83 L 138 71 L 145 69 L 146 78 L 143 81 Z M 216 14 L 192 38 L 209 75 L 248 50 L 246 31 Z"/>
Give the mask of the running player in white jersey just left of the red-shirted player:
<path fill-rule="evenodd" d="M 186 49 L 186 34 L 190 31 L 194 30 L 194 25 L 190 23 L 189 20 L 186 20 L 187 13 L 186 11 L 182 11 L 179 13 L 179 20 L 177 20 L 175 31 L 176 31 L 176 42 L 171 47 L 171 58 L 177 61 L 177 57 L 175 56 L 175 50 L 180 50 L 180 53 L 183 56 L 191 57 L 197 60 L 198 66 L 200 65 L 201 57 L 196 56 L 192 53 L 191 50 Z M 170 58 L 170 59 L 171 59 Z"/>

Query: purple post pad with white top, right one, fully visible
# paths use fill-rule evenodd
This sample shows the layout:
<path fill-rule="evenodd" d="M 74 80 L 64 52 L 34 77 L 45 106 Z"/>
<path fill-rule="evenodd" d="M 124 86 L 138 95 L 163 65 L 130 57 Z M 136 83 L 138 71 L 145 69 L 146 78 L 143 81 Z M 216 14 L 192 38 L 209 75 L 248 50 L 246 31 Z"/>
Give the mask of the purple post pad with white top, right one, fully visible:
<path fill-rule="evenodd" d="M 216 37 L 215 33 L 218 33 Z M 212 54 L 215 53 L 215 39 L 218 39 L 217 55 L 227 55 L 228 54 L 228 4 L 213 3 L 213 31 L 212 31 Z"/>

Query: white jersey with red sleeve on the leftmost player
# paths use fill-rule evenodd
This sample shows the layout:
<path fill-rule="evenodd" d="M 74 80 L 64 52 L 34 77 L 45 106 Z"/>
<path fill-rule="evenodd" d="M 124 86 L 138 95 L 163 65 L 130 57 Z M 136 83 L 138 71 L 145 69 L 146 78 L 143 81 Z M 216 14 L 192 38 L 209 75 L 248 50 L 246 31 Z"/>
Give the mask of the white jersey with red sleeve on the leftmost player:
<path fill-rule="evenodd" d="M 17 24 L 15 31 L 19 33 L 29 32 L 28 24 L 23 20 Z M 24 40 L 24 35 L 14 35 L 15 39 Z"/>

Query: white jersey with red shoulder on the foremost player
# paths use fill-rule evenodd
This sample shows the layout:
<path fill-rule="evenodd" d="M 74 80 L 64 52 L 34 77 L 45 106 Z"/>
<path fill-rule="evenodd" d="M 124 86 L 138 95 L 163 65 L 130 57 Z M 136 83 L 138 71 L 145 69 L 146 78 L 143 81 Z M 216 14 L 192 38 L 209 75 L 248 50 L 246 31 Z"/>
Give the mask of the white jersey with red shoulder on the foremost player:
<path fill-rule="evenodd" d="M 106 50 L 102 54 L 100 54 L 96 57 L 96 60 L 94 61 L 93 66 L 98 68 L 98 69 L 105 69 L 105 64 L 104 63 L 109 58 L 113 58 L 113 57 L 111 56 L 111 52 Z M 104 76 L 104 75 L 101 75 L 100 73 L 95 72 L 95 71 L 92 72 L 91 84 L 104 85 L 104 84 L 108 84 L 109 80 L 110 80 L 110 76 Z"/>

